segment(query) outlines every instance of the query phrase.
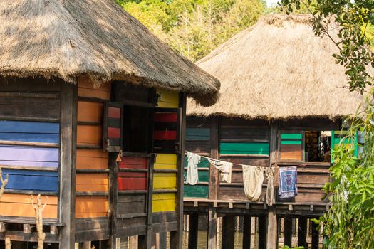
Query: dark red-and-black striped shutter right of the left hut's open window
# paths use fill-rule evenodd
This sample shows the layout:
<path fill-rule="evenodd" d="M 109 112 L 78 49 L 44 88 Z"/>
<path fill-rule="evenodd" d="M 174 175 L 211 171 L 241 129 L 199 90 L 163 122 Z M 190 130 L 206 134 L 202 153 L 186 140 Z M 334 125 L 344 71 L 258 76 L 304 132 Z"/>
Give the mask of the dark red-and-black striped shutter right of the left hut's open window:
<path fill-rule="evenodd" d="M 180 153 L 181 108 L 155 108 L 153 113 L 153 152 Z"/>

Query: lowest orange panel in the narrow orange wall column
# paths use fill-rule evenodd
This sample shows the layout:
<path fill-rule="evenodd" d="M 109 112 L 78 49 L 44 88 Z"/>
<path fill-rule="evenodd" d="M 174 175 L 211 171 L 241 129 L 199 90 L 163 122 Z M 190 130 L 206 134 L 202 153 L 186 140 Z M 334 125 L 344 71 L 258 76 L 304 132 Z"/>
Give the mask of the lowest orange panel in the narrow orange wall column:
<path fill-rule="evenodd" d="M 77 196 L 76 218 L 105 217 L 108 215 L 107 196 Z"/>

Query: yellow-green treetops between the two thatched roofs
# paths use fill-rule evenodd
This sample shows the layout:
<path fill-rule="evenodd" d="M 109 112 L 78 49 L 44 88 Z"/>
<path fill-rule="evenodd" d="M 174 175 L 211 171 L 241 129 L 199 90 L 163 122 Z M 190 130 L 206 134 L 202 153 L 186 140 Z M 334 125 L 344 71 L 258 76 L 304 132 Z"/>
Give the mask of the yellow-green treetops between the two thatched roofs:
<path fill-rule="evenodd" d="M 196 61 L 254 24 L 262 0 L 116 0 L 175 51 Z"/>

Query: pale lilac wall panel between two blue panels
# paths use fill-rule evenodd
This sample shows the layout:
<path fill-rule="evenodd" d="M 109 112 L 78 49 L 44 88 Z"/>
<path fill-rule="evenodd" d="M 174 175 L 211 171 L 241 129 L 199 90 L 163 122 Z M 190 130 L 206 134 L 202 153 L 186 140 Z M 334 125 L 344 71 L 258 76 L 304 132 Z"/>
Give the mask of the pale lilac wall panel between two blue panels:
<path fill-rule="evenodd" d="M 0 146 L 0 164 L 58 167 L 58 148 Z"/>

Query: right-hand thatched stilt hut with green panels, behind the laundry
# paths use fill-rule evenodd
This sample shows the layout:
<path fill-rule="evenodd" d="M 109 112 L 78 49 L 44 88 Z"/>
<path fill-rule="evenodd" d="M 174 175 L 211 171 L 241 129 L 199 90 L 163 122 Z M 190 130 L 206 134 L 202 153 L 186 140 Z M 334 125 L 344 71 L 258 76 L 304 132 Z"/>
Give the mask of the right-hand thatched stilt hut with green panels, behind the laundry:
<path fill-rule="evenodd" d="M 330 181 L 330 147 L 338 142 L 342 117 L 355 113 L 361 98 L 346 89 L 345 70 L 332 57 L 334 44 L 315 36 L 309 21 L 310 16 L 266 16 L 197 63 L 222 83 L 221 97 L 211 107 L 187 102 L 187 151 L 235 163 L 232 183 L 202 159 L 199 183 L 185 184 L 189 230 L 197 227 L 198 214 L 209 214 L 208 248 L 220 243 L 217 216 L 224 216 L 222 248 L 234 248 L 234 216 L 244 216 L 243 248 L 278 248 L 283 233 L 291 246 L 291 218 L 298 218 L 298 244 L 306 245 L 307 218 L 328 208 L 321 187 Z M 336 31 L 331 29 L 334 37 Z M 264 202 L 266 176 L 261 198 L 249 202 L 237 164 L 274 165 L 276 172 L 298 166 L 296 198 L 278 197 L 276 173 L 276 204 Z M 253 216 L 259 217 L 259 241 L 250 241 Z M 318 233 L 312 233 L 308 243 L 318 248 Z M 189 235 L 189 248 L 196 248 L 196 234 Z"/>

